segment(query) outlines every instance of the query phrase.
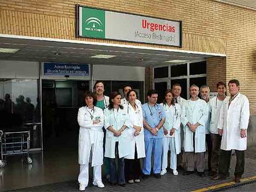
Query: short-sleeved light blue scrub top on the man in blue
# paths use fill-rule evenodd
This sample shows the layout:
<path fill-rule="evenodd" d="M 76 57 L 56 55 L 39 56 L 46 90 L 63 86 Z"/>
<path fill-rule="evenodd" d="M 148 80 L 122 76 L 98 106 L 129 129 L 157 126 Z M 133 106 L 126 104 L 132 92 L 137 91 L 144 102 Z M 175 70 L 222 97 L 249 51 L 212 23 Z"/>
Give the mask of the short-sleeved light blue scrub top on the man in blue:
<path fill-rule="evenodd" d="M 145 119 L 150 125 L 151 128 L 155 128 L 162 119 L 165 118 L 165 112 L 163 110 L 163 106 L 160 106 L 160 104 L 155 104 L 155 106 L 150 106 L 147 103 L 142 105 L 142 111 L 143 111 L 143 119 Z M 145 139 L 151 139 L 151 138 L 163 138 L 163 128 L 161 128 L 157 135 L 152 135 L 150 131 L 148 131 L 146 128 L 144 129 L 144 137 Z"/>

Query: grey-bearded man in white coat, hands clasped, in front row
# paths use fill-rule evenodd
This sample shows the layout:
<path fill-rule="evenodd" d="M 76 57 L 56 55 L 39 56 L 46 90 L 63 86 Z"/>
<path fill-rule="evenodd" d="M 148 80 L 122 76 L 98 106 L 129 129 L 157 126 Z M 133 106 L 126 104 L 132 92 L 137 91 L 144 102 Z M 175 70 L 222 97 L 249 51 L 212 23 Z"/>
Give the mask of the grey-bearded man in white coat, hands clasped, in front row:
<path fill-rule="evenodd" d="M 187 170 L 190 175 L 197 169 L 200 177 L 205 177 L 205 123 L 208 119 L 208 106 L 198 98 L 199 88 L 191 85 L 191 98 L 182 106 L 181 122 L 184 126 L 184 151 L 187 156 Z"/>

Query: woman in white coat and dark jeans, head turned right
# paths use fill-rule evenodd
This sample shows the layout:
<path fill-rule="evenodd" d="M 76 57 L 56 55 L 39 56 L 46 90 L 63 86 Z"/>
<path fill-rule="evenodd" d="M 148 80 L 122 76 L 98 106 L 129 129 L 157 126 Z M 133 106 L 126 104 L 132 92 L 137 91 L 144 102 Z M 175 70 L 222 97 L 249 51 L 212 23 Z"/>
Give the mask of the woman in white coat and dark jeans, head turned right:
<path fill-rule="evenodd" d="M 125 186 L 124 157 L 129 152 L 127 144 L 127 113 L 121 106 L 121 94 L 112 92 L 109 97 L 109 106 L 104 110 L 106 128 L 105 157 L 109 158 L 109 182 Z M 116 158 L 118 172 L 116 172 Z M 117 181 L 118 179 L 118 181 Z"/>

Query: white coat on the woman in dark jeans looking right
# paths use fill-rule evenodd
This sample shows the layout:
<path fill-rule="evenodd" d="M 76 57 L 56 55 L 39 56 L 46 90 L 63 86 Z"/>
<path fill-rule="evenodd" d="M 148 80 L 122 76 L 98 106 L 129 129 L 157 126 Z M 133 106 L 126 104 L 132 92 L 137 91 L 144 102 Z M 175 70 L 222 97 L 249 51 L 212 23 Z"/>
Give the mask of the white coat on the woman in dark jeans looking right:
<path fill-rule="evenodd" d="M 106 143 L 105 143 L 105 157 L 115 158 L 115 147 L 116 142 L 118 141 L 118 152 L 119 158 L 125 157 L 129 154 L 130 144 L 127 140 L 127 128 L 122 131 L 120 136 L 114 136 L 114 133 L 108 130 L 108 127 L 111 126 L 114 130 L 120 130 L 123 125 L 127 126 L 128 115 L 124 109 L 105 109 L 104 110 L 104 127 L 106 128 Z M 128 127 L 128 126 L 127 126 Z"/>

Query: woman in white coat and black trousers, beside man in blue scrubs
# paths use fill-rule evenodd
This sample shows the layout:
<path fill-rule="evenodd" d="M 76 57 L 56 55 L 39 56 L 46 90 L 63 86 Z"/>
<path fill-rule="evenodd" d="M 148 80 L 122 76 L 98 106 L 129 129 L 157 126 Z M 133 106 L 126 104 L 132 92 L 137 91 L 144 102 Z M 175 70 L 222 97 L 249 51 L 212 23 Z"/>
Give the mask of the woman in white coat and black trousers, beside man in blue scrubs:
<path fill-rule="evenodd" d="M 140 183 L 140 158 L 145 157 L 142 106 L 136 104 L 137 92 L 135 90 L 128 91 L 127 98 L 129 101 L 125 109 L 129 117 L 127 138 L 131 150 L 125 157 L 125 173 L 128 183 Z"/>

